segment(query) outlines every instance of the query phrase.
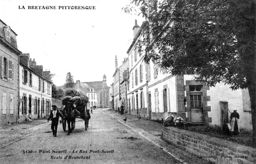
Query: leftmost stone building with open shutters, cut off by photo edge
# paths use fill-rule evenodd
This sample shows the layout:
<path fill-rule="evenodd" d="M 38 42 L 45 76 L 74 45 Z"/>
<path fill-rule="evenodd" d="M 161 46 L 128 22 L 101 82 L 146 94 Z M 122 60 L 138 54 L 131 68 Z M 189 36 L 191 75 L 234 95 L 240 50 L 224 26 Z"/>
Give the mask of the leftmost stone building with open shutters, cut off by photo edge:
<path fill-rule="evenodd" d="M 17 34 L 0 20 L 0 124 L 16 123 L 19 113 L 19 55 Z"/>

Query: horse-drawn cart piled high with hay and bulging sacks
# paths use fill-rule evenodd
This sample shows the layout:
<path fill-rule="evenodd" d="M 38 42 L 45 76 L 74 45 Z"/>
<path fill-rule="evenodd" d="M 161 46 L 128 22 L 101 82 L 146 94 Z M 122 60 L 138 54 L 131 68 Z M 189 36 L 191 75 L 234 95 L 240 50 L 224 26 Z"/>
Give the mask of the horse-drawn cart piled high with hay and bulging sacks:
<path fill-rule="evenodd" d="M 73 120 L 73 124 L 75 124 L 75 119 L 80 118 L 84 120 L 85 130 L 88 127 L 89 116 L 86 115 L 86 106 L 88 103 L 88 97 L 83 93 L 78 92 L 76 90 L 70 89 L 67 90 L 64 94 L 64 98 L 62 99 L 62 114 L 65 115 L 66 119 L 62 120 L 63 130 L 66 131 L 67 121 Z M 70 122 L 70 121 L 69 121 Z M 72 125 L 71 125 L 72 126 Z M 72 128 L 72 129 L 71 129 Z M 72 130 L 75 128 L 70 127 L 68 125 L 68 133 L 72 133 Z"/>

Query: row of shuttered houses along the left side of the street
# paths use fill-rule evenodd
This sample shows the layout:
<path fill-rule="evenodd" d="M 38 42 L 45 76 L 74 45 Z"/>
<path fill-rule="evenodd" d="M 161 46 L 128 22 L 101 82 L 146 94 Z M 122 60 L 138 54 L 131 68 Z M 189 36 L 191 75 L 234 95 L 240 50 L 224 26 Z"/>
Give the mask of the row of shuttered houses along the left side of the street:
<path fill-rule="evenodd" d="M 44 118 L 52 104 L 50 71 L 17 47 L 17 34 L 0 20 L 0 124 Z"/>

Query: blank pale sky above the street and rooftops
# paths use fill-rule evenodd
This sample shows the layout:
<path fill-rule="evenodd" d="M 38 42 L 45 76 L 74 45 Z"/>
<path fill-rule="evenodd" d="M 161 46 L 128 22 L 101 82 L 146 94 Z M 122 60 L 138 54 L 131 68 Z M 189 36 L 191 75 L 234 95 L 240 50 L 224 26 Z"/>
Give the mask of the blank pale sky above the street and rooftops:
<path fill-rule="evenodd" d="M 122 11 L 129 4 L 130 0 L 0 0 L 0 19 L 18 35 L 18 49 L 55 74 L 57 86 L 65 83 L 68 72 L 74 82 L 102 81 L 106 74 L 110 86 L 115 56 L 121 66 L 128 57 L 135 19 L 139 26 L 143 22 L 137 14 Z M 95 10 L 59 10 L 58 6 L 95 6 Z"/>

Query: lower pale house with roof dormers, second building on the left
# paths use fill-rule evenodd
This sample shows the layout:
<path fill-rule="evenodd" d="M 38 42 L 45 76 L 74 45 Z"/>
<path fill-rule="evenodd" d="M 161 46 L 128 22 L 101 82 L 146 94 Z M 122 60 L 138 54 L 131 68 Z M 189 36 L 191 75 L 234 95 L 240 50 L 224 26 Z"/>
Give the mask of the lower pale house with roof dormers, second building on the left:
<path fill-rule="evenodd" d="M 20 108 L 19 121 L 25 118 L 45 118 L 52 105 L 52 82 L 50 71 L 29 60 L 29 53 L 20 55 Z"/>

